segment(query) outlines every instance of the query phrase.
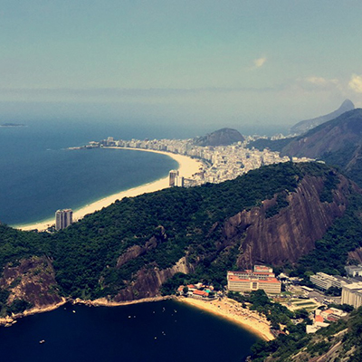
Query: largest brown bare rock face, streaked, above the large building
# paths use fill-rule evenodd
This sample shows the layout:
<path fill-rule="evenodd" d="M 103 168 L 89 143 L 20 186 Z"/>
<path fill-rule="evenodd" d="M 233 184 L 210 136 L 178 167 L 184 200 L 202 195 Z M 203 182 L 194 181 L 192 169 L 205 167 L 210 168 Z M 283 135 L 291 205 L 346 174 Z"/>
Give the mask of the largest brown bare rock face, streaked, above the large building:
<path fill-rule="evenodd" d="M 266 210 L 273 204 L 269 201 L 234 215 L 224 224 L 224 239 L 240 243 L 238 265 L 243 268 L 257 262 L 281 265 L 296 262 L 310 252 L 346 210 L 349 185 L 348 179 L 340 176 L 338 189 L 333 191 L 333 202 L 320 202 L 323 181 L 306 176 L 296 192 L 287 196 L 289 206 L 279 214 L 265 218 Z"/>

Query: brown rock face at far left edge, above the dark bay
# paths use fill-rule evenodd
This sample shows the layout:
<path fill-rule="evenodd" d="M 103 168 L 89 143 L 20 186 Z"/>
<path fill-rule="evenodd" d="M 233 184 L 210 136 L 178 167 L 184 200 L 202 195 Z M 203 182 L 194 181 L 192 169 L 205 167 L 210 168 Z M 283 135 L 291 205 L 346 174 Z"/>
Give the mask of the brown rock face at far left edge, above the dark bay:
<path fill-rule="evenodd" d="M 14 267 L 6 266 L 0 288 L 10 291 L 9 305 L 17 299 L 26 300 L 36 308 L 62 301 L 52 263 L 45 257 L 26 259 Z"/>

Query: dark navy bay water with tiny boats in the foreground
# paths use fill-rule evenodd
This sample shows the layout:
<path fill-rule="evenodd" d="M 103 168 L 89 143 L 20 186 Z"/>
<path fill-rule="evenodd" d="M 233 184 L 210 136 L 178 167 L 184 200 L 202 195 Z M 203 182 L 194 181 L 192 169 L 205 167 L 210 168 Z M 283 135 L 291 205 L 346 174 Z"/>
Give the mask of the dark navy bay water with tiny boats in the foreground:
<path fill-rule="evenodd" d="M 257 341 L 233 323 L 173 300 L 112 308 L 65 308 L 0 328 L 1 360 L 241 362 Z M 45 343 L 40 344 L 42 339 Z"/>

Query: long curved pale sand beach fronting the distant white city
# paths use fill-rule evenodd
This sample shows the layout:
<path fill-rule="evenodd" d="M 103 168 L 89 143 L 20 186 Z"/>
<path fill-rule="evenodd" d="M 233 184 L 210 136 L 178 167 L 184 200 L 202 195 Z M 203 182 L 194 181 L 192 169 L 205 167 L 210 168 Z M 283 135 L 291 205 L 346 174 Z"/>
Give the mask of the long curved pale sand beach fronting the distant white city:
<path fill-rule="evenodd" d="M 183 155 L 177 155 L 169 152 L 156 151 L 151 149 L 139 149 L 139 148 L 115 148 L 115 149 L 120 149 L 120 150 L 131 149 L 140 152 L 154 152 L 171 157 L 175 159 L 176 162 L 178 163 L 177 169 L 180 172 L 180 175 L 186 178 L 194 175 L 196 172 L 199 171 L 200 167 L 202 167 L 202 163 L 194 158 L 186 157 Z M 146 185 L 133 187 L 130 188 L 129 190 L 121 191 L 118 194 L 104 197 L 98 201 L 95 201 L 94 203 L 91 203 L 90 205 L 85 205 L 80 209 L 73 210 L 73 220 L 80 220 L 82 217 L 84 217 L 84 215 L 94 213 L 95 211 L 98 211 L 103 207 L 111 205 L 116 200 L 121 200 L 123 197 L 134 197 L 146 193 L 159 191 L 167 187 L 168 187 L 168 176 L 156 180 L 154 182 L 148 183 Z M 56 210 L 54 210 L 54 214 L 55 211 Z M 34 229 L 43 231 L 46 230 L 48 227 L 52 226 L 52 224 L 54 224 L 54 218 L 34 224 L 15 225 L 15 227 L 17 229 L 21 229 L 24 231 L 34 230 Z"/>

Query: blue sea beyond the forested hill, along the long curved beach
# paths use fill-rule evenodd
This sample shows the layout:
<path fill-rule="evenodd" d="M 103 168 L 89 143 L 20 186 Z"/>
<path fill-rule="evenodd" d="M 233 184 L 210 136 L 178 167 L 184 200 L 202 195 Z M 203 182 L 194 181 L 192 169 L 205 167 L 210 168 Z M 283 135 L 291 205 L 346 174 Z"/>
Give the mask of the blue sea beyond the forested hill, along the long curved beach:
<path fill-rule="evenodd" d="M 107 195 L 167 176 L 164 155 L 132 150 L 68 150 L 108 136 L 135 138 L 138 129 L 110 123 L 30 122 L 0 128 L 0 221 L 30 224 L 60 208 L 77 209 Z"/>

